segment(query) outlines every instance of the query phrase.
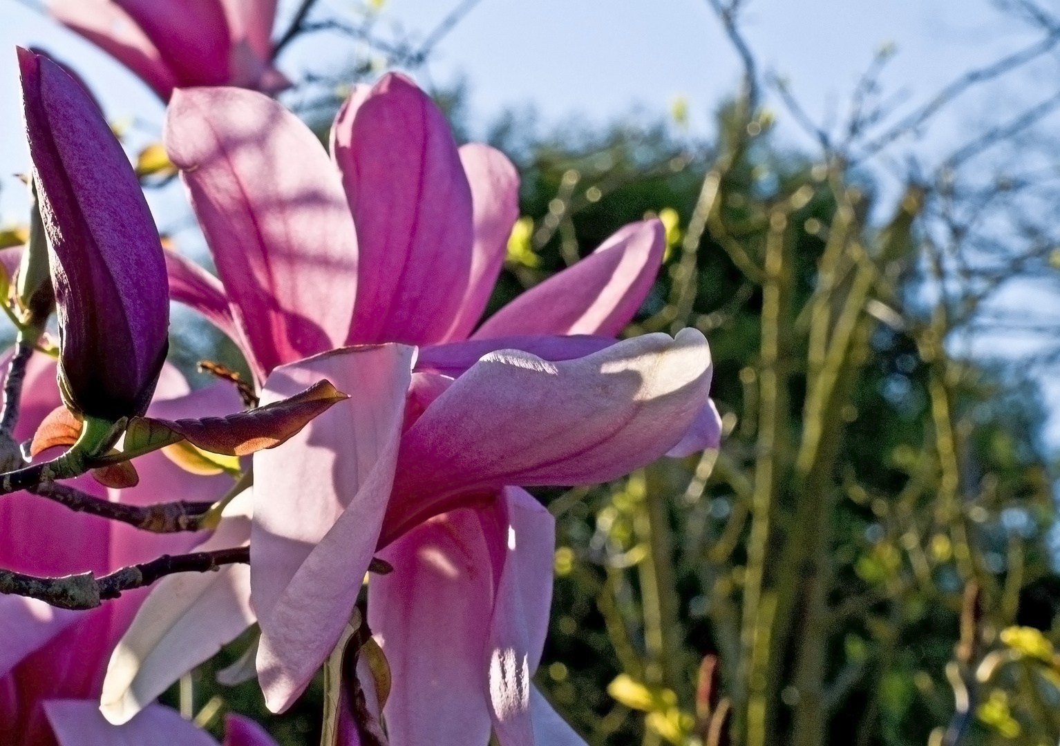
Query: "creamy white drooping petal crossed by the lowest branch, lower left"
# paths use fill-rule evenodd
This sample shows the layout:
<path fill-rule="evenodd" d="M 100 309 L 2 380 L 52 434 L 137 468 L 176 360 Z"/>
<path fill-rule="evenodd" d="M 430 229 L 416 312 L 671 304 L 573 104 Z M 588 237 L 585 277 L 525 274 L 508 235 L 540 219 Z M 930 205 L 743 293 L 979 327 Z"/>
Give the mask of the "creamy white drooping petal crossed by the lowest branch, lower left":
<path fill-rule="evenodd" d="M 243 493 L 200 551 L 246 545 L 252 498 Z M 159 581 L 110 656 L 100 710 L 114 725 L 127 723 L 181 675 L 208 660 L 254 622 L 250 568 L 189 572 Z"/>

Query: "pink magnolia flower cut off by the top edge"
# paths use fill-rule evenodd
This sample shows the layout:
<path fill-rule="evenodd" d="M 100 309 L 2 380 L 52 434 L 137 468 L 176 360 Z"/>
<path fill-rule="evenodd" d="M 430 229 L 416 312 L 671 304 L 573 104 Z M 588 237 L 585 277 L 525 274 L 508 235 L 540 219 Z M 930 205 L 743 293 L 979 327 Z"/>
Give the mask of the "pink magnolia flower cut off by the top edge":
<path fill-rule="evenodd" d="M 178 87 L 290 85 L 271 61 L 276 0 L 48 0 L 48 10 L 163 101 Z"/>

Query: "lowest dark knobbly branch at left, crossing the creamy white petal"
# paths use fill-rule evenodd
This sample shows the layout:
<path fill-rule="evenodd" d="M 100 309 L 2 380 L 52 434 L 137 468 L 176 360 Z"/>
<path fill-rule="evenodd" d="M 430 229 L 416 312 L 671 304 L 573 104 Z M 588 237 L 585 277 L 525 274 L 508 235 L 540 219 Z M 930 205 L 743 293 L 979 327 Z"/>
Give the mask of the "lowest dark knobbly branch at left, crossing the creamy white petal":
<path fill-rule="evenodd" d="M 0 570 L 0 593 L 37 599 L 58 608 L 84 610 L 96 608 L 126 590 L 143 588 L 160 578 L 177 572 L 208 572 L 224 565 L 248 564 L 250 547 L 220 549 L 214 552 L 163 554 L 157 560 L 130 565 L 96 578 L 91 572 L 61 578 L 37 578 L 12 570 Z"/>

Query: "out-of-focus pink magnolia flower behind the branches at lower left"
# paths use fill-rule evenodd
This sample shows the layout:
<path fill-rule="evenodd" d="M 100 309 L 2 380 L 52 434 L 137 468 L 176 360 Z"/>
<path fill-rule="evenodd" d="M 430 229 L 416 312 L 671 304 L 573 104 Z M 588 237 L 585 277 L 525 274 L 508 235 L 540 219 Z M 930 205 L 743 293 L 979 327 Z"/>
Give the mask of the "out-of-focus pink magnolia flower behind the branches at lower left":
<path fill-rule="evenodd" d="M 6 369 L 6 360 L 3 362 Z M 16 439 L 32 438 L 57 406 L 55 361 L 37 354 L 26 370 Z M 237 407 L 238 396 L 232 387 L 217 384 L 191 393 L 182 376 L 167 366 L 148 411 L 169 418 L 219 415 Z M 39 458 L 54 457 L 59 450 L 46 450 Z M 161 452 L 138 459 L 137 468 L 140 483 L 129 490 L 108 491 L 89 476 L 71 484 L 96 497 L 148 504 L 160 499 L 216 499 L 231 483 L 223 476 L 188 474 Z M 0 567 L 21 572 L 63 575 L 91 570 L 102 574 L 160 554 L 188 551 L 201 540 L 198 534 L 138 531 L 74 513 L 28 493 L 15 493 L 0 501 Z M 0 597 L 4 642 L 0 649 L 0 743 L 55 744 L 45 712 L 50 700 L 73 698 L 96 707 L 91 700 L 99 699 L 110 651 L 146 594 L 146 589 L 123 593 L 90 611 L 52 608 L 16 596 Z"/>

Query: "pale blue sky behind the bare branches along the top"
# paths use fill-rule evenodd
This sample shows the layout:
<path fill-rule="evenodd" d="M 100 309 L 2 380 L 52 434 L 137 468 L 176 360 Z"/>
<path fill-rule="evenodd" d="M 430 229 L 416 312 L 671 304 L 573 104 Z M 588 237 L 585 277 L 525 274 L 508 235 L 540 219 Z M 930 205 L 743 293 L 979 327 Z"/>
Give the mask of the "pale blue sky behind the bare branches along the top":
<path fill-rule="evenodd" d="M 108 116 L 157 131 L 162 107 L 135 76 L 77 36 L 26 7 L 0 0 L 0 224 L 22 220 L 24 198 L 8 175 L 26 168 L 20 134 L 15 45 L 39 45 L 73 65 L 100 95 Z M 358 0 L 319 0 L 330 10 Z M 377 29 L 424 35 L 457 0 L 387 0 Z M 278 34 L 295 0 L 281 0 Z M 1060 0 L 1046 0 L 1060 11 Z M 747 0 L 745 35 L 762 71 L 787 78 L 815 120 L 841 119 L 850 91 L 873 52 L 894 43 L 883 83 L 909 106 L 925 101 L 961 72 L 1022 48 L 1035 35 L 1001 14 L 991 0 Z M 318 64 L 320 39 L 293 45 L 281 67 L 297 74 Z M 311 56 L 313 55 L 313 56 Z M 336 54 L 335 64 L 341 59 Z M 900 143 L 878 173 L 915 153 L 937 163 L 982 127 L 1055 90 L 1056 59 L 959 100 L 921 137 Z M 737 57 L 707 0 L 481 0 L 419 71 L 421 83 L 467 83 L 473 127 L 480 131 L 507 107 L 532 105 L 547 125 L 571 117 L 605 122 L 631 111 L 665 116 L 687 100 L 693 134 L 710 131 L 711 111 L 739 79 Z M 775 96 L 767 105 L 783 138 L 812 142 Z M 152 197 L 159 224 L 187 220 L 179 190 Z M 186 247 L 187 248 L 187 247 Z M 193 248 L 193 247 L 192 247 Z M 1055 307 L 1052 290 L 1035 304 Z M 1046 300 L 1047 299 L 1047 300 Z M 1057 314 L 1060 316 L 1060 312 Z M 1060 384 L 1049 387 L 1056 414 L 1049 440 L 1060 444 Z"/>

